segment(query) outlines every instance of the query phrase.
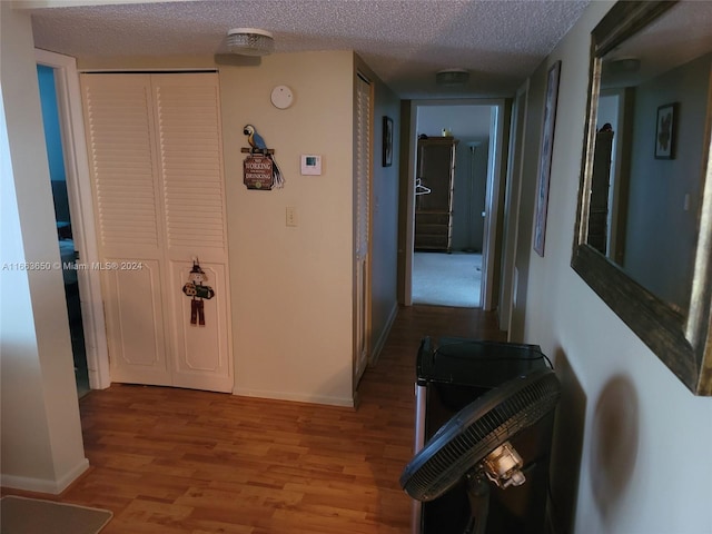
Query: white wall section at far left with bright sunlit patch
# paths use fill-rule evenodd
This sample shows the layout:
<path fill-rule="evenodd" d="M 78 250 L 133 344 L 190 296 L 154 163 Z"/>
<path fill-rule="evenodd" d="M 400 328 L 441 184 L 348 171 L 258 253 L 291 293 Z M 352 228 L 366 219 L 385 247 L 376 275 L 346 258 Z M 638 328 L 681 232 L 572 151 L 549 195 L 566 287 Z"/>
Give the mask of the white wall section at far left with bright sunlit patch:
<path fill-rule="evenodd" d="M 60 493 L 83 455 L 30 18 L 0 2 L 2 485 Z M 2 129 L 6 121 L 2 121 Z M 19 270 L 19 265 L 38 266 Z"/>

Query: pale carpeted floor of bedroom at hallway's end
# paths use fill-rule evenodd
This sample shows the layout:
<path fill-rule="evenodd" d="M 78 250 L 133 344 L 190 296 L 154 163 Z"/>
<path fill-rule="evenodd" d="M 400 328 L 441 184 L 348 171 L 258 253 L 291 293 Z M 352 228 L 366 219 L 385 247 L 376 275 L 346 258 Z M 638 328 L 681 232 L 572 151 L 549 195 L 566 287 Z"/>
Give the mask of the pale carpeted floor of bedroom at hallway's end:
<path fill-rule="evenodd" d="M 413 304 L 479 307 L 482 254 L 414 253 Z"/>

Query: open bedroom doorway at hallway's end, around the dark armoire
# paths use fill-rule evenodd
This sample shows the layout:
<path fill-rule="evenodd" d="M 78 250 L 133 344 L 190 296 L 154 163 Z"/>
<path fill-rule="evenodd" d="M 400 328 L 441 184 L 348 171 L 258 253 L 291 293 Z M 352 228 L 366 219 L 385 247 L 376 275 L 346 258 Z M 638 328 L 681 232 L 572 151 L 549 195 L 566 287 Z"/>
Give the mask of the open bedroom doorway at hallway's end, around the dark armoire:
<path fill-rule="evenodd" d="M 456 307 L 494 307 L 495 235 L 500 204 L 503 100 L 414 101 L 409 113 L 408 187 L 402 198 L 406 214 L 403 236 L 403 304 Z M 423 251 L 415 247 L 415 195 L 417 142 L 422 136 L 452 136 L 457 141 L 452 201 L 452 239 L 446 251 Z M 417 191 L 416 191 L 417 192 Z M 435 256 L 433 256 L 435 255 Z M 423 266 L 439 263 L 435 285 Z M 458 270 L 457 266 L 462 266 Z M 448 275 L 452 273 L 453 275 Z M 459 280 L 459 281 L 458 281 Z M 463 281 L 464 280 L 464 281 Z M 466 284 L 459 286 L 458 284 Z M 423 296 L 431 294 L 434 296 Z M 466 295 L 463 295 L 466 293 Z M 447 295 L 453 295 L 448 299 Z"/>

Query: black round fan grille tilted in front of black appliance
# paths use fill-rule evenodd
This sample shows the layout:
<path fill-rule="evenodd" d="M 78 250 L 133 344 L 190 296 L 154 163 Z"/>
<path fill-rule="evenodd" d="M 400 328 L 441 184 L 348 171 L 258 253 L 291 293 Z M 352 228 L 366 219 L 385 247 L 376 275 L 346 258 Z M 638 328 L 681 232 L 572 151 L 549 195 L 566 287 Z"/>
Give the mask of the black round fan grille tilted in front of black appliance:
<path fill-rule="evenodd" d="M 400 486 L 413 498 L 432 501 L 502 443 L 556 406 L 561 388 L 551 369 L 515 378 L 465 406 L 411 461 Z"/>

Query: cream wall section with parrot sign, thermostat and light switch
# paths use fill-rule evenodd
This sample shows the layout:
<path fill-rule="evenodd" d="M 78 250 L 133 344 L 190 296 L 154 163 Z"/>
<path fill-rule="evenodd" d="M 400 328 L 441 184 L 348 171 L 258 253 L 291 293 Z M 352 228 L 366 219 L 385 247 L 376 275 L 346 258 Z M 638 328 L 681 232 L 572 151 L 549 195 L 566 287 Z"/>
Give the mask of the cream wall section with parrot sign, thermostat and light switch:
<path fill-rule="evenodd" d="M 349 51 L 220 69 L 237 394 L 353 404 L 353 71 Z M 286 110 L 269 101 L 283 83 Z M 247 123 L 275 149 L 284 189 L 243 185 Z M 323 176 L 299 175 L 301 154 L 323 156 Z"/>

